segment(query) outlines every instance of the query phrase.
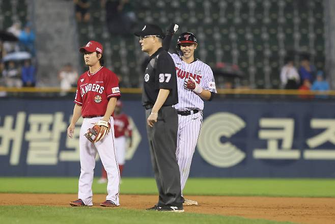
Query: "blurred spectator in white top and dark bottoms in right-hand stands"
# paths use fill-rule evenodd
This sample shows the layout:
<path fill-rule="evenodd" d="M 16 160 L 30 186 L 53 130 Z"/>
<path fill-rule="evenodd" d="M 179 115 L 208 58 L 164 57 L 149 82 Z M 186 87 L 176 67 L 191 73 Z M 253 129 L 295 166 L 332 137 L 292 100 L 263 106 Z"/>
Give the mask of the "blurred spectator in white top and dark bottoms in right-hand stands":
<path fill-rule="evenodd" d="M 285 66 L 281 71 L 281 82 L 282 87 L 287 90 L 299 88 L 300 77 L 291 57 L 285 59 Z"/>

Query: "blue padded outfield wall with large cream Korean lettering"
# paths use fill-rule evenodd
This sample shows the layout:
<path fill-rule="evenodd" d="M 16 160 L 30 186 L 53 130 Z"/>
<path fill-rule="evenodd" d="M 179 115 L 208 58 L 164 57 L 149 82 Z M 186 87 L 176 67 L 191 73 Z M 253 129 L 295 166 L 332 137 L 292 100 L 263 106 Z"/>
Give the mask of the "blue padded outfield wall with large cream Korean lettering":
<path fill-rule="evenodd" d="M 153 176 L 144 109 L 123 104 L 134 129 L 123 176 Z M 66 134 L 72 100 L 3 98 L 0 107 L 0 176 L 79 175 L 81 120 L 73 139 Z M 335 103 L 206 103 L 190 177 L 335 177 Z"/>

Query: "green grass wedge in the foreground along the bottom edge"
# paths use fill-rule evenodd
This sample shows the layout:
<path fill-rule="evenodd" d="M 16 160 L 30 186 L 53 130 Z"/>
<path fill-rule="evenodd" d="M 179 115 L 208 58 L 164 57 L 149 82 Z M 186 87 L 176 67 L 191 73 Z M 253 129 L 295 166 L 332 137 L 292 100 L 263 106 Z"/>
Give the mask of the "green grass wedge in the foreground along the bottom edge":
<path fill-rule="evenodd" d="M 123 208 L 49 207 L 49 206 L 0 206 L 1 223 L 225 223 L 225 224 L 275 224 L 292 223 L 234 216 L 204 215 L 130 210 Z"/>

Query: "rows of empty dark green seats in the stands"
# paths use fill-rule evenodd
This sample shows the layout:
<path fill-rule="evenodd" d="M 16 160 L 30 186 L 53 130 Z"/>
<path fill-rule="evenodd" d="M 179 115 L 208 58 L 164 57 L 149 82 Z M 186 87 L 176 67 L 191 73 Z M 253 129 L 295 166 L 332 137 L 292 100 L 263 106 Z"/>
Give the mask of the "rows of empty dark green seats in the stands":
<path fill-rule="evenodd" d="M 0 29 L 13 21 L 26 22 L 26 0 L 0 0 Z M 100 1 L 97 1 L 100 2 Z M 157 23 L 163 30 L 175 21 L 181 32 L 193 32 L 199 41 L 196 57 L 215 67 L 218 62 L 237 64 L 251 88 L 278 88 L 287 52 L 311 55 L 324 69 L 322 0 L 132 0 L 137 29 Z M 142 73 L 138 38 L 108 33 L 105 10 L 91 4 L 91 20 L 78 22 L 78 44 L 94 39 L 105 46 L 106 66 L 123 77 L 126 87 L 138 87 Z M 177 37 L 173 39 L 175 42 Z M 219 80 L 219 79 L 218 79 Z M 221 80 L 221 79 L 220 79 Z M 236 80 L 236 83 L 240 81 Z M 217 83 L 218 87 L 222 86 Z"/>

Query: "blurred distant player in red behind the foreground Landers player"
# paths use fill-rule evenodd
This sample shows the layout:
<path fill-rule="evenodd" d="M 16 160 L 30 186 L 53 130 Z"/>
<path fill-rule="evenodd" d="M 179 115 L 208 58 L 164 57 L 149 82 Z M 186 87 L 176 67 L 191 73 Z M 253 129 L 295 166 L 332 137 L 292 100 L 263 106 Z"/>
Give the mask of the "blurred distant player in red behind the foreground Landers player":
<path fill-rule="evenodd" d="M 131 126 L 128 116 L 122 113 L 122 102 L 118 100 L 114 111 L 114 133 L 116 157 L 119 163 L 120 176 L 122 175 L 123 166 L 126 160 L 126 143 L 129 137 L 129 147 L 131 147 Z M 102 166 L 102 175 L 98 183 L 107 181 L 107 173 Z"/>

